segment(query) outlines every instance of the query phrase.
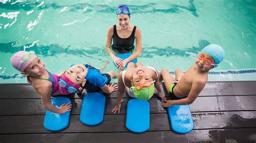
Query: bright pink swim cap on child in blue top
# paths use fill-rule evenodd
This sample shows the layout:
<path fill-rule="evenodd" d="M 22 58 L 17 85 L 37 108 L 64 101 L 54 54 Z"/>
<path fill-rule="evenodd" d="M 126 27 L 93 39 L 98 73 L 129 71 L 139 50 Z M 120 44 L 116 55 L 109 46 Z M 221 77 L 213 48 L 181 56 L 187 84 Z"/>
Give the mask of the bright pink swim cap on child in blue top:
<path fill-rule="evenodd" d="M 69 92 L 67 89 L 69 89 L 70 87 L 71 88 L 74 88 L 76 90 L 78 90 L 80 88 L 79 85 L 77 85 L 76 83 L 73 83 L 71 80 L 69 80 L 68 77 L 66 77 L 65 75 L 65 72 L 60 75 L 59 77 L 62 81 L 64 81 L 65 83 L 63 83 L 62 81 L 59 81 L 59 85 L 60 83 L 62 84 L 65 84 L 65 85 L 60 85 L 60 92 L 63 94 L 63 95 L 68 95 L 68 94 L 72 94 L 72 92 Z"/>

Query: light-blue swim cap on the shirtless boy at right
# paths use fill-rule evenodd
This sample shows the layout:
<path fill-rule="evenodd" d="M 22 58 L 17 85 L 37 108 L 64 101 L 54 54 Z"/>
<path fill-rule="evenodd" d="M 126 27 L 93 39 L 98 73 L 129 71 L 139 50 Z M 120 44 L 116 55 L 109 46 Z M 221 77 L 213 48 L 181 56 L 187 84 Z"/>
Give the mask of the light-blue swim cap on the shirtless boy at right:
<path fill-rule="evenodd" d="M 215 61 L 215 65 L 218 65 L 225 56 L 225 51 L 222 47 L 216 44 L 210 44 L 201 50 L 201 53 L 206 53 L 212 56 Z M 217 67 L 217 66 L 214 66 Z"/>

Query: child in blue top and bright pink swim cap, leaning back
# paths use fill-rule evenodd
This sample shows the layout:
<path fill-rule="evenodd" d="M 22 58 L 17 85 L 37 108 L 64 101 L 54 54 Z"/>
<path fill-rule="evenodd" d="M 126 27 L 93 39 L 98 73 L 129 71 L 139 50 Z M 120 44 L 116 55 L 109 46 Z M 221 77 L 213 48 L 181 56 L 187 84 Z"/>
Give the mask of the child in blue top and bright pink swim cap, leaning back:
<path fill-rule="evenodd" d="M 118 74 L 109 71 L 102 74 L 99 69 L 90 65 L 73 65 L 59 77 L 60 92 L 63 95 L 80 92 L 83 89 L 92 92 L 103 90 L 106 94 L 117 91 L 117 85 L 109 85 L 111 78 L 117 78 Z"/>

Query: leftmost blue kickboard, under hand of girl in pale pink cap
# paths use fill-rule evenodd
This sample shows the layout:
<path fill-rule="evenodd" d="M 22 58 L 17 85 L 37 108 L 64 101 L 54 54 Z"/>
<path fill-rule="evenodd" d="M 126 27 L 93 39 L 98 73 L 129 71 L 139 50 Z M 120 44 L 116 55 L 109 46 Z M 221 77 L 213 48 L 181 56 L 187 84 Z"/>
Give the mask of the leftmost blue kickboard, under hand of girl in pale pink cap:
<path fill-rule="evenodd" d="M 64 103 L 69 103 L 70 99 L 67 97 L 55 97 L 51 98 L 51 104 L 59 108 Z M 60 131 L 69 126 L 70 112 L 63 114 L 53 113 L 46 110 L 44 117 L 44 127 L 50 131 Z"/>

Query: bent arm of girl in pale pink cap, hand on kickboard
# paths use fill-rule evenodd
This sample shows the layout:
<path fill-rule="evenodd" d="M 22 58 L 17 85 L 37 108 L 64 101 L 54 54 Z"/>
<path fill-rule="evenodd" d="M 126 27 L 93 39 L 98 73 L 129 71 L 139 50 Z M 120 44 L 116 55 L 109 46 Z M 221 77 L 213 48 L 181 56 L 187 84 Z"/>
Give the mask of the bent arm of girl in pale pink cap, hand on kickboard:
<path fill-rule="evenodd" d="M 49 110 L 55 113 L 65 113 L 71 110 L 72 104 L 62 104 L 59 108 L 56 108 L 51 104 L 51 84 L 43 84 L 37 89 L 37 92 L 41 95 L 42 103 L 45 110 Z"/>

